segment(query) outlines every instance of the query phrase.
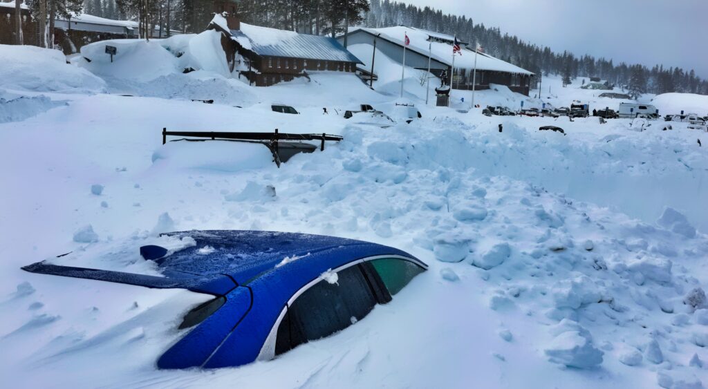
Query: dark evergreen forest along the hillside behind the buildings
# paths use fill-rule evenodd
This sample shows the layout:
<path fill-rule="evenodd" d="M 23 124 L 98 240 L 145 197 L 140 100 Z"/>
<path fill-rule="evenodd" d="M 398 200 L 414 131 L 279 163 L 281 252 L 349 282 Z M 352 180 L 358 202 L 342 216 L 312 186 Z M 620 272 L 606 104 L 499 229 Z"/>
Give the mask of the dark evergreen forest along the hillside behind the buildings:
<path fill-rule="evenodd" d="M 146 9 L 147 12 L 143 11 Z M 91 15 L 137 19 L 142 13 L 148 15 L 151 25 L 162 23 L 164 28 L 182 32 L 203 30 L 212 11 L 212 0 L 84 0 L 84 12 Z M 693 70 L 664 68 L 661 64 L 651 68 L 644 64 L 615 64 L 612 59 L 553 52 L 550 47 L 525 42 L 502 33 L 499 28 L 428 6 L 419 8 L 389 0 L 244 0 L 239 2 L 239 13 L 246 23 L 318 35 L 343 33 L 346 25 L 372 28 L 408 25 L 457 35 L 472 45 L 479 42 L 485 52 L 536 74 L 568 79 L 598 76 L 627 88 L 633 95 L 667 92 L 708 95 L 708 81 L 696 76 Z"/>

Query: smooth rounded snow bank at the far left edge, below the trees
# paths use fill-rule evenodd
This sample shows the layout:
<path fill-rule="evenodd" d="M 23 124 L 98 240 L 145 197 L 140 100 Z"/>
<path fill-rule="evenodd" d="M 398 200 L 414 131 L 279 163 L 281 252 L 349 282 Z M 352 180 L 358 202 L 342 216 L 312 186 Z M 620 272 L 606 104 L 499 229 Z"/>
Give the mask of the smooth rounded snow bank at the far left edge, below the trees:
<path fill-rule="evenodd" d="M 34 46 L 0 45 L 0 88 L 34 92 L 96 93 L 103 80 L 67 64 L 62 52 Z"/>

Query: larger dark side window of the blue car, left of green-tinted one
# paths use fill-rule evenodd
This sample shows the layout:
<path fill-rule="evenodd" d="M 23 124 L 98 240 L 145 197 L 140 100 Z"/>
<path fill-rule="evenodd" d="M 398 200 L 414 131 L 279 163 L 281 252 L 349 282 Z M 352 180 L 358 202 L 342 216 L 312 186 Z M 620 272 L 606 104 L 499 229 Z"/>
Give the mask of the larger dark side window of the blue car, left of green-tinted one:
<path fill-rule="evenodd" d="M 364 318 L 377 301 L 360 265 L 337 272 L 336 282 L 321 280 L 287 308 L 275 339 L 275 355 L 328 337 Z"/>

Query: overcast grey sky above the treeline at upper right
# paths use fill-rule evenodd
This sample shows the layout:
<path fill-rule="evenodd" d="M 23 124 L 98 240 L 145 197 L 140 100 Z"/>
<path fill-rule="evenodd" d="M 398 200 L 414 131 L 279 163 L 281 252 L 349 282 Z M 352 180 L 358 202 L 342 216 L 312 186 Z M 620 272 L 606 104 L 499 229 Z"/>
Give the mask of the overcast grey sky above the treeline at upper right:
<path fill-rule="evenodd" d="M 399 0 L 549 46 L 708 79 L 708 0 Z"/>

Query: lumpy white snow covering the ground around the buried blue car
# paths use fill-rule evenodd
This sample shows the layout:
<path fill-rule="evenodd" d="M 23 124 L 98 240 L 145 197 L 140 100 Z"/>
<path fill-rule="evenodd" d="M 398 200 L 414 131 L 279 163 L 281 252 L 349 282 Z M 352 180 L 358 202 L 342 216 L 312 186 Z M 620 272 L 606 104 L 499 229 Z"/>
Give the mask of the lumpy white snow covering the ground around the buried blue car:
<path fill-rule="evenodd" d="M 149 56 L 171 63 L 158 42 L 133 49 L 158 50 Z M 423 118 L 405 124 L 393 79 L 381 79 L 377 91 L 331 73 L 252 88 L 215 71 L 181 74 L 179 66 L 125 77 L 120 59 L 116 69 L 87 66 L 99 78 L 53 52 L 23 49 L 0 46 L 13 64 L 0 74 L 0 377 L 11 387 L 708 382 L 708 305 L 695 291 L 708 285 L 705 133 L 680 123 L 664 132 L 663 122 L 652 122 L 639 132 L 629 120 L 485 117 L 465 112 L 471 96 L 458 91 L 455 109 L 433 108 L 412 69 L 405 101 Z M 51 88 L 18 65 L 28 58 L 40 62 Z M 556 106 L 618 104 L 578 81 L 544 83 L 544 97 L 551 87 L 544 101 Z M 540 104 L 497 89 L 476 100 Z M 271 112 L 273 102 L 302 115 Z M 359 103 L 399 123 L 341 117 Z M 545 124 L 567 136 L 538 132 Z M 162 146 L 163 127 L 278 128 L 345 140 L 278 169 L 265 148 Z M 273 361 L 158 371 L 157 357 L 182 335 L 183 313 L 204 296 L 19 269 L 51 259 L 153 274 L 140 245 L 176 248 L 186 243 L 156 233 L 207 228 L 371 240 L 411 252 L 430 271 L 356 325 Z"/>

